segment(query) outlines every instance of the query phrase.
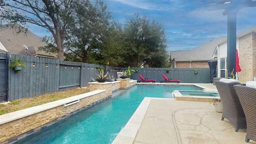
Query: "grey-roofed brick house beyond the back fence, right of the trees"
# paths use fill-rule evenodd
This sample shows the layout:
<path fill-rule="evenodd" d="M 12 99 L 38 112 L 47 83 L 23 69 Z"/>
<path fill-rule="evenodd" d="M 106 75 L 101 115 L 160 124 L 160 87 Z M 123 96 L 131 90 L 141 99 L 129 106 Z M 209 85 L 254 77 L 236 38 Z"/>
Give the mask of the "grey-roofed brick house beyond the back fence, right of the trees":
<path fill-rule="evenodd" d="M 216 45 L 226 41 L 227 37 L 221 36 L 191 50 L 170 51 L 170 64 L 173 68 L 209 68 Z"/>

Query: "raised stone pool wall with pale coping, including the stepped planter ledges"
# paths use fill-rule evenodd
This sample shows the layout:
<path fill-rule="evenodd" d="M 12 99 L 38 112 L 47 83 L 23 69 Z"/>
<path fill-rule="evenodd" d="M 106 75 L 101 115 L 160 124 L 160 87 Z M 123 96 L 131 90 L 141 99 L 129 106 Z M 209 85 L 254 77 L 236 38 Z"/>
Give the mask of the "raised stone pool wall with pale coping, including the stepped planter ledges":
<path fill-rule="evenodd" d="M 0 116 L 0 144 L 11 144 L 60 120 L 103 102 L 112 92 L 136 85 L 137 80 L 90 82 L 90 92 Z M 125 87 L 127 86 L 127 87 Z"/>

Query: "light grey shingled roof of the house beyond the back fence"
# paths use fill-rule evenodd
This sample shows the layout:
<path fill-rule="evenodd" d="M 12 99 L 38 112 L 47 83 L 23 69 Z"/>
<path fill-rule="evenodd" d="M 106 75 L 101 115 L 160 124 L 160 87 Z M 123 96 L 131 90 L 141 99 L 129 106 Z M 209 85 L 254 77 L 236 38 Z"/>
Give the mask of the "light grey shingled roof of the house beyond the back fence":
<path fill-rule="evenodd" d="M 214 52 L 216 45 L 227 41 L 226 36 L 220 36 L 213 40 L 197 46 L 191 50 L 186 51 L 170 51 L 170 57 L 176 62 L 185 61 L 209 61 L 213 60 L 212 52 Z"/>

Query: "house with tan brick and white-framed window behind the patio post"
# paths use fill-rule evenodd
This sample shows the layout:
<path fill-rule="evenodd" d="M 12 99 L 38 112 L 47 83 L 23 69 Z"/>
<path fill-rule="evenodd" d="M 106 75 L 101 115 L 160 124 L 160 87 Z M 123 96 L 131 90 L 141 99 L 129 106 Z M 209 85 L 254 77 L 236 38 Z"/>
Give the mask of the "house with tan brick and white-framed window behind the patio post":
<path fill-rule="evenodd" d="M 253 81 L 256 77 L 256 25 L 236 35 L 236 49 L 239 55 L 239 65 L 242 69 L 238 75 L 239 81 Z M 216 45 L 212 57 L 218 60 L 218 77 L 226 77 L 227 41 Z"/>

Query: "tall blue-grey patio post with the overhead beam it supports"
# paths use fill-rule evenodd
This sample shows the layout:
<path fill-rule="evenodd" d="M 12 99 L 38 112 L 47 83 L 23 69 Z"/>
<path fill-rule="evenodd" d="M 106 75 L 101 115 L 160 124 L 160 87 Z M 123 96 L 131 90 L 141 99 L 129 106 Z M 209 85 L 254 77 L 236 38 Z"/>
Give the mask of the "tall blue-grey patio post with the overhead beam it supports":
<path fill-rule="evenodd" d="M 242 8 L 256 7 L 256 0 L 205 0 L 206 10 L 224 10 L 228 16 L 227 69 L 236 70 L 236 13 Z"/>

